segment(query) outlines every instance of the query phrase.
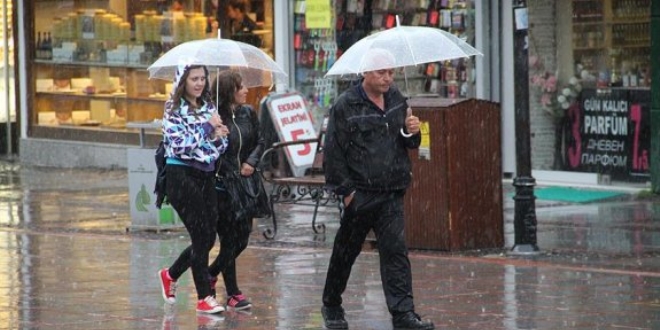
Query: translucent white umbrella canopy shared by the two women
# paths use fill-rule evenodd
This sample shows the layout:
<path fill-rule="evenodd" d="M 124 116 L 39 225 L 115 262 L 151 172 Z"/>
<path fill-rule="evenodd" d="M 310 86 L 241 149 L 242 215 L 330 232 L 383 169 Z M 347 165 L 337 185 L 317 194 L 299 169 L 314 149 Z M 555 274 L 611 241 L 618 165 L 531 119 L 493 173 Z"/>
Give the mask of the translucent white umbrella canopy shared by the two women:
<path fill-rule="evenodd" d="M 213 71 L 238 70 L 246 87 L 287 83 L 287 75 L 261 49 L 230 39 L 203 39 L 184 42 L 163 54 L 147 70 L 149 78 L 172 80 L 181 63 L 205 65 Z"/>

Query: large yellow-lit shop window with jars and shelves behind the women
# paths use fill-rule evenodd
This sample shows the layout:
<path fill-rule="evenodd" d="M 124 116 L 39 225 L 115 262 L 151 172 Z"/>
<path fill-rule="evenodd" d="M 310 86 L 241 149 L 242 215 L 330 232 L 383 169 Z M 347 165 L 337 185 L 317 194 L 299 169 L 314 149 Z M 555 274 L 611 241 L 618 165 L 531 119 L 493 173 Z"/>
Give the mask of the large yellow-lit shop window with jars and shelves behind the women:
<path fill-rule="evenodd" d="M 32 132 L 126 131 L 129 122 L 162 118 L 171 83 L 150 80 L 146 68 L 177 44 L 216 38 L 226 2 L 33 1 Z M 246 8 L 255 27 L 235 39 L 273 54 L 272 0 Z"/>

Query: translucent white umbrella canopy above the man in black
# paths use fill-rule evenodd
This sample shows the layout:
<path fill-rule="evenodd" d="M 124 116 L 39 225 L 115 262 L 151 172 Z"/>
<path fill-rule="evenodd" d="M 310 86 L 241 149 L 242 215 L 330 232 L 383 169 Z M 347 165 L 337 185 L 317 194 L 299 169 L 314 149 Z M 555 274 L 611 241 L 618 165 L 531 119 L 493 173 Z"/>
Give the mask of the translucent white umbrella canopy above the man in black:
<path fill-rule="evenodd" d="M 385 50 L 392 60 L 374 61 L 375 52 Z M 361 74 L 385 68 L 415 66 L 483 55 L 459 37 L 425 26 L 397 26 L 369 35 L 349 47 L 326 76 Z"/>

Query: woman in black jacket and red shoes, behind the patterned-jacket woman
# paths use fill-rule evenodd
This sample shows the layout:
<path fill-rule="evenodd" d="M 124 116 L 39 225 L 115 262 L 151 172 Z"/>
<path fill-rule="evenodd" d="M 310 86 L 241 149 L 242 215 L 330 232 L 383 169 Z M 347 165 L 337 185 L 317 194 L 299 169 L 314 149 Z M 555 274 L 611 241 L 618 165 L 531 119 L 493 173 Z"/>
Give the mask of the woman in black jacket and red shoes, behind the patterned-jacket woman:
<path fill-rule="evenodd" d="M 239 171 L 242 176 L 258 175 L 256 168 L 264 152 L 264 139 L 259 119 L 252 107 L 245 105 L 247 87 L 238 72 L 222 71 L 213 83 L 211 94 L 216 98 L 218 113 L 229 128 L 229 146 L 218 163 L 218 175 Z M 220 254 L 209 266 L 211 287 L 215 288 L 222 273 L 227 291 L 227 309 L 252 307 L 238 288 L 236 258 L 245 250 L 252 231 L 253 214 L 237 218 L 231 209 L 231 197 L 220 187 L 218 191 L 218 237 Z"/>

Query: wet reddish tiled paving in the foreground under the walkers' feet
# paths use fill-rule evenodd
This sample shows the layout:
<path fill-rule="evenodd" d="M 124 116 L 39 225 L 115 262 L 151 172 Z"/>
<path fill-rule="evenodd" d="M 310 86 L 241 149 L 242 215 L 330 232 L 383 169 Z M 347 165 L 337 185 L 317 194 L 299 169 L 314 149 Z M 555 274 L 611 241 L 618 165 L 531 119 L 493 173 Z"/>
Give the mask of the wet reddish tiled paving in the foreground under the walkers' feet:
<path fill-rule="evenodd" d="M 238 262 L 255 306 L 199 316 L 190 275 L 163 303 L 156 270 L 185 239 L 3 231 L 0 324 L 9 329 L 320 329 L 329 250 L 250 247 Z M 217 253 L 217 251 L 213 251 Z M 660 273 L 505 257 L 411 253 L 417 311 L 438 329 L 657 329 Z M 219 285 L 222 285 L 220 281 Z M 222 292 L 222 289 L 219 290 Z M 351 329 L 391 329 L 378 258 L 365 251 L 344 295 Z"/>

